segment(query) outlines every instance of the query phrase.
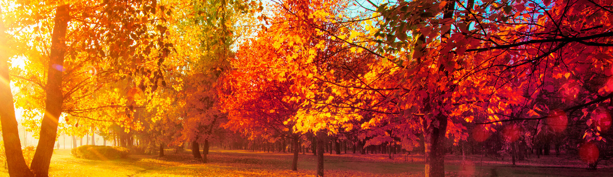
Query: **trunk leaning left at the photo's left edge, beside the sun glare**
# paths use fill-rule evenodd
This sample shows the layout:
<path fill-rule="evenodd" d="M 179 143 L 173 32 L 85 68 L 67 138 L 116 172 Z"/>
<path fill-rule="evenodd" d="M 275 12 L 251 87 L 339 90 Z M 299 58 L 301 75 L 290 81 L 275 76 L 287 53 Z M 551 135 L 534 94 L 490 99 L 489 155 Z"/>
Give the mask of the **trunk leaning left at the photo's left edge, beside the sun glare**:
<path fill-rule="evenodd" d="M 0 43 L 2 45 L 6 45 L 8 40 L 8 36 L 4 31 L 6 29 L 4 29 L 4 23 L 0 19 Z M 15 118 L 15 105 L 13 105 L 13 94 L 10 91 L 9 56 L 8 51 L 5 49 L 4 46 L 0 47 L 0 100 L 2 100 L 0 102 L 0 124 L 2 124 L 2 139 L 4 140 L 6 162 L 10 176 L 34 176 L 34 173 L 26 165 L 26 160 L 21 153 L 19 129 L 17 119 Z"/>

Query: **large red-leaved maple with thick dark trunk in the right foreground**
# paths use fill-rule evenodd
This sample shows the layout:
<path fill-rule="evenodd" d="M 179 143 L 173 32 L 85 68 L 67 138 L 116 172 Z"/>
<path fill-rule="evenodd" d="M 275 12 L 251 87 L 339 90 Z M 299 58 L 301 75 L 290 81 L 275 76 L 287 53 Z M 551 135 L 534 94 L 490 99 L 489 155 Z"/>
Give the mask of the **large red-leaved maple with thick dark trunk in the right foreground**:
<path fill-rule="evenodd" d="M 290 4 L 292 2 L 294 1 L 289 1 Z M 316 3 L 311 2 L 310 5 Z M 526 86 L 528 92 L 530 89 L 533 92 L 552 91 L 552 81 L 547 75 L 556 78 L 571 75 L 572 73 L 567 74 L 568 72 L 561 72 L 560 69 L 552 67 L 562 63 L 560 57 L 554 55 L 559 55 L 558 50 L 568 48 L 571 51 L 583 51 L 583 48 L 590 48 L 588 51 L 600 49 L 599 51 L 603 50 L 604 53 L 609 50 L 606 48 L 609 46 L 606 42 L 606 37 L 610 37 L 607 32 L 609 26 L 603 26 L 602 21 L 588 21 L 587 24 L 564 22 L 570 20 L 570 16 L 593 19 L 595 16 L 587 14 L 596 11 L 602 13 L 601 15 L 608 15 L 609 10 L 604 8 L 606 6 L 596 2 L 585 5 L 578 1 L 547 2 L 546 6 L 535 4 L 528 1 L 411 1 L 380 6 L 371 4 L 377 7 L 376 10 L 372 10 L 375 11 L 373 16 L 383 20 L 376 21 L 377 27 L 370 27 L 370 34 L 374 34 L 374 37 L 362 34 L 370 40 L 357 40 L 357 42 L 353 40 L 360 34 L 351 36 L 335 34 L 322 27 L 326 25 L 318 24 L 309 18 L 300 18 L 300 10 L 295 10 L 291 18 L 297 18 L 302 20 L 301 23 L 308 24 L 306 30 L 317 29 L 326 32 L 335 39 L 347 43 L 349 48 L 368 51 L 381 58 L 381 62 L 375 62 L 370 66 L 370 72 L 359 76 L 363 80 L 361 83 L 352 80 L 343 83 L 338 81 L 338 78 L 322 73 L 307 71 L 305 74 L 314 75 L 307 77 L 307 81 L 311 80 L 312 83 L 324 81 L 327 84 L 324 86 L 330 90 L 352 88 L 364 92 L 364 97 L 370 98 L 363 99 L 367 101 L 364 102 L 364 106 L 348 102 L 347 100 L 354 97 L 352 94 L 349 94 L 351 97 L 343 99 L 332 96 L 333 99 L 329 100 L 310 101 L 315 105 L 326 105 L 326 107 L 332 105 L 335 108 L 354 108 L 380 113 L 381 116 L 376 116 L 367 124 L 363 124 L 362 128 L 375 126 L 378 122 L 399 121 L 390 120 L 395 116 L 389 115 L 401 115 L 400 121 L 408 121 L 407 124 L 412 124 L 411 119 L 419 118 L 419 122 L 413 121 L 413 124 L 421 124 L 426 141 L 426 174 L 442 176 L 444 147 L 439 145 L 443 144 L 447 132 L 454 135 L 457 140 L 466 138 L 466 134 L 462 131 L 465 127 L 458 121 L 472 122 L 475 118 L 466 115 L 466 111 L 484 113 L 485 117 L 481 118 L 489 120 L 485 129 L 491 129 L 489 124 L 495 122 L 559 118 L 558 116 L 516 118 L 512 107 L 525 107 L 538 94 L 530 93 L 525 97 L 524 92 L 514 88 Z M 589 7 L 591 11 L 566 10 L 581 7 Z M 558 14 L 552 14 L 553 12 Z M 568 13 L 577 13 L 577 16 L 574 14 L 565 16 L 569 15 Z M 562 21 L 555 21 L 558 18 Z M 335 23 L 351 24 L 356 21 L 368 22 L 370 19 L 335 21 Z M 560 23 L 568 26 L 560 27 Z M 577 29 L 574 31 L 579 33 L 569 36 L 569 29 Z M 359 31 L 359 29 L 351 30 Z M 308 36 L 313 33 L 303 32 L 301 35 Z M 290 46 L 292 42 L 300 45 L 304 39 L 308 38 L 297 38 L 287 43 Z M 280 37 L 276 37 L 276 40 L 283 41 Z M 378 48 L 371 49 L 377 44 Z M 304 66 L 298 60 L 301 58 L 296 56 L 299 54 L 294 53 L 294 56 L 289 58 L 294 59 L 292 62 L 276 62 L 275 66 L 267 67 L 278 66 L 289 68 L 291 72 L 304 72 Z M 602 57 L 604 56 L 600 58 Z M 558 62 L 555 62 L 555 58 Z M 581 57 L 574 58 L 575 61 L 571 61 L 571 64 L 577 63 L 576 60 Z M 593 66 L 607 66 L 606 61 L 601 62 L 604 63 Z M 292 66 L 294 63 L 297 66 Z M 600 70 L 604 71 L 604 68 L 601 67 Z M 547 70 L 553 73 L 547 73 Z M 319 74 L 324 77 L 318 78 Z M 282 76 L 287 73 L 280 72 L 275 75 Z M 513 80 L 519 81 L 512 82 Z M 307 99 L 312 97 L 310 94 L 317 96 L 324 94 L 309 89 L 314 85 L 310 83 L 300 85 L 302 91 L 297 92 L 304 94 L 303 98 Z M 318 85 L 319 88 L 321 86 Z M 607 86 L 601 87 L 600 97 L 596 96 L 599 99 L 566 108 L 565 111 L 574 111 L 600 102 L 606 103 L 609 98 L 606 90 Z M 373 100 L 378 101 L 373 102 Z M 328 111 L 329 108 L 324 112 Z M 517 115 L 523 116 L 523 113 L 520 111 Z M 511 119 L 501 119 L 501 116 Z M 305 118 L 303 119 L 305 121 L 313 120 L 306 118 L 307 116 L 296 117 Z M 340 119 L 341 122 L 343 119 Z M 588 130 L 586 135 L 596 134 L 593 130 Z"/>

